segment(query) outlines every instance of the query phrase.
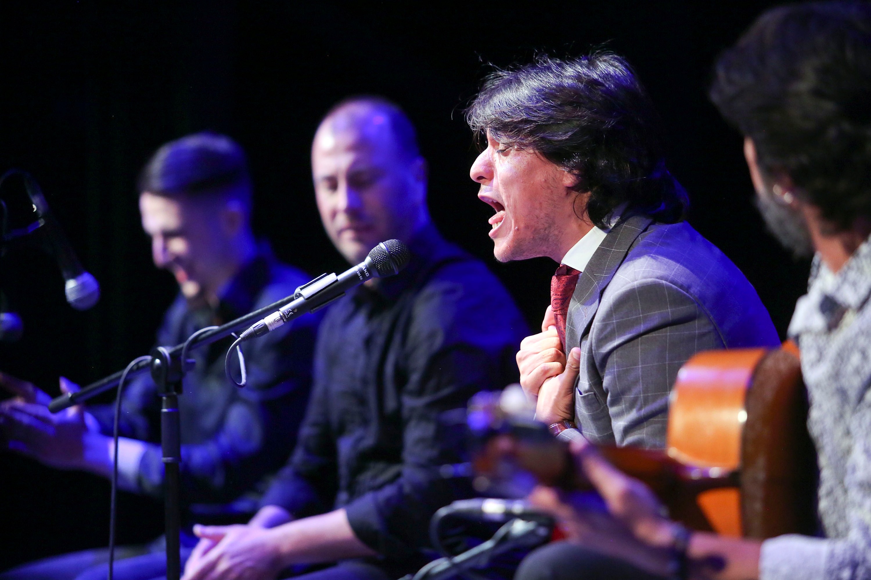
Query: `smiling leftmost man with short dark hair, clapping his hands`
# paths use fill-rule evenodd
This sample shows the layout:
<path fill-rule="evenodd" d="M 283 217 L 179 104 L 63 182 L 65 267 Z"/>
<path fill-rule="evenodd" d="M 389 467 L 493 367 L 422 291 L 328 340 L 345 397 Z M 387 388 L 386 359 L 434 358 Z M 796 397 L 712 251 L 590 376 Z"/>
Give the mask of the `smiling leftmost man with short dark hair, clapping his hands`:
<path fill-rule="evenodd" d="M 159 345 L 183 343 L 193 332 L 226 323 L 292 296 L 308 277 L 280 263 L 250 225 L 252 183 L 243 150 L 221 135 L 198 133 L 157 150 L 138 183 L 142 227 L 152 258 L 179 283 L 166 310 Z M 312 344 L 318 317 L 304 317 L 268 337 L 246 343 L 244 390 L 224 372 L 226 341 L 191 353 L 196 366 L 179 397 L 182 555 L 197 538 L 193 523 L 245 521 L 258 508 L 265 479 L 293 450 L 311 386 Z M 76 406 L 52 414 L 36 386 L 0 374 L 17 397 L 0 407 L 4 445 L 64 470 L 111 477 L 113 405 Z M 64 378 L 61 390 L 76 389 Z M 150 377 L 130 381 L 122 396 L 118 483 L 135 493 L 163 493 L 160 398 Z M 115 577 L 164 575 L 162 541 L 116 550 Z M 108 550 L 51 557 L 0 575 L 3 580 L 105 577 Z"/>

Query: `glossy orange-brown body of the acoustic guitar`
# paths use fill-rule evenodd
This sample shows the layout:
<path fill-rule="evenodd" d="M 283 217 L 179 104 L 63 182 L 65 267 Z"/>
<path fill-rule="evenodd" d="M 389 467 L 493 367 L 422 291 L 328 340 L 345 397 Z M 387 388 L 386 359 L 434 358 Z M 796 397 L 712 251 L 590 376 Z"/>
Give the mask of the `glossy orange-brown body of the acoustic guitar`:
<path fill-rule="evenodd" d="M 814 533 L 816 454 L 797 354 L 791 343 L 712 350 L 679 370 L 668 455 L 713 473 L 739 472 L 738 485 L 702 491 L 683 506 L 685 523 L 733 537 Z"/>

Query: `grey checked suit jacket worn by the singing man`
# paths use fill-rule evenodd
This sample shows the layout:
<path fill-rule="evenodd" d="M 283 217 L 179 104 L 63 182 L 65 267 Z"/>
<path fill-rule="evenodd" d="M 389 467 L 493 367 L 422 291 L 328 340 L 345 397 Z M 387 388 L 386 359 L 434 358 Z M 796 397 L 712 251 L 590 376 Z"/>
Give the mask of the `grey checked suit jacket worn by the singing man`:
<path fill-rule="evenodd" d="M 740 270 L 689 223 L 628 217 L 578 277 L 566 352 L 581 348 L 576 423 L 594 443 L 665 447 L 668 396 L 699 350 L 776 346 Z M 564 438 L 577 431 L 564 431 Z"/>

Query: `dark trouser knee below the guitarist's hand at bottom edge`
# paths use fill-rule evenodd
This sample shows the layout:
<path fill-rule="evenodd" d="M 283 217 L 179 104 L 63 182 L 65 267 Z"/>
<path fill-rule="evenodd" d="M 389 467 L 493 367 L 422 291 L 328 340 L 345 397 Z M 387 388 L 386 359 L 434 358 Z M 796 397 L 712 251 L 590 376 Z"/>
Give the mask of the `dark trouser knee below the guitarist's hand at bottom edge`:
<path fill-rule="evenodd" d="M 554 542 L 523 558 L 514 580 L 663 580 L 623 560 L 568 542 Z"/>

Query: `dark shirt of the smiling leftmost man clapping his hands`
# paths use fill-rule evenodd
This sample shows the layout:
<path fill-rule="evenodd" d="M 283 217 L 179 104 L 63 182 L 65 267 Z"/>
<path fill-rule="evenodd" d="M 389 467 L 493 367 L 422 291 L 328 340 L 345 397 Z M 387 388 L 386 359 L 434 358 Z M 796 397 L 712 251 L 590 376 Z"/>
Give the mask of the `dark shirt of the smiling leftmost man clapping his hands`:
<path fill-rule="evenodd" d="M 261 244 L 253 260 L 221 292 L 217 308 L 192 304 L 179 294 L 165 313 L 157 343 L 183 343 L 196 330 L 293 296 L 308 278 L 279 263 L 268 246 Z M 187 507 L 186 519 L 236 521 L 257 509 L 268 486 L 265 478 L 279 470 L 294 449 L 311 386 L 319 321 L 317 315 L 300 317 L 266 337 L 244 343 L 248 373 L 244 389 L 230 383 L 224 372 L 224 355 L 232 340 L 192 351 L 196 367 L 187 373 L 179 397 L 181 499 Z M 238 373 L 237 367 L 233 369 Z M 126 387 L 123 398 L 122 435 L 152 443 L 138 465 L 138 490 L 159 495 L 164 468 L 157 388 L 151 377 L 141 375 Z M 101 429 L 111 434 L 111 406 L 89 410 Z"/>

